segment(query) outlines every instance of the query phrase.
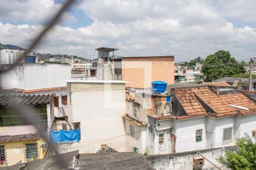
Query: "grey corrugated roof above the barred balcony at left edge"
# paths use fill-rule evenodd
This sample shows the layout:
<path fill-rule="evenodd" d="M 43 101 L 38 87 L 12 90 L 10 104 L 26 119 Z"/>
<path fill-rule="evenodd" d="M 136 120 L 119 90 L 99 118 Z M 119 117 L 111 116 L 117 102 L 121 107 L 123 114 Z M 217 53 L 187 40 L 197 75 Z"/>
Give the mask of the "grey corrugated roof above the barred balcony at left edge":
<path fill-rule="evenodd" d="M 1 105 L 18 104 L 47 104 L 50 102 L 52 95 L 7 95 L 0 94 Z"/>

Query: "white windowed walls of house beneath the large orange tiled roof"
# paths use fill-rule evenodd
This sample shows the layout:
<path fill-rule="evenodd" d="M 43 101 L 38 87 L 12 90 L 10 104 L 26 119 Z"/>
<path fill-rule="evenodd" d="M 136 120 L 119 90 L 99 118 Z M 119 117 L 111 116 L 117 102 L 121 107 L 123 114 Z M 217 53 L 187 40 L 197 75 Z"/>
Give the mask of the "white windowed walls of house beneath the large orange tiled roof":
<path fill-rule="evenodd" d="M 245 133 L 253 139 L 252 130 L 256 129 L 256 114 L 248 116 L 232 116 L 224 118 L 197 117 L 184 120 L 161 120 L 156 121 L 162 126 L 170 125 L 171 134 L 176 137 L 176 142 L 170 138 L 170 131 L 165 134 L 164 145 L 171 147 L 171 150 L 163 150 L 158 144 L 159 134 L 164 134 L 164 130 L 155 133 L 155 150 L 152 154 L 168 154 L 175 152 L 185 152 L 202 150 L 206 148 L 218 148 L 236 145 L 236 139 L 245 137 Z M 167 127 L 169 128 L 169 127 Z M 224 129 L 233 128 L 232 139 L 223 141 Z M 202 129 L 202 141 L 196 141 L 196 130 Z M 175 143 L 175 146 L 174 146 Z M 211 144 L 211 145 L 210 145 Z M 162 147 L 163 147 L 162 146 Z"/>

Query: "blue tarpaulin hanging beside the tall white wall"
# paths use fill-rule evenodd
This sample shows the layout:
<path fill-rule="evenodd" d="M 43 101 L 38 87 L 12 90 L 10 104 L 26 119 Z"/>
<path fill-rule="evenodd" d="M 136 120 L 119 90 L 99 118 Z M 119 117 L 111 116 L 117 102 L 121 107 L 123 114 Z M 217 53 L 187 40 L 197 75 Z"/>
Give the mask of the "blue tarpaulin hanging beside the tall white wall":
<path fill-rule="evenodd" d="M 60 142 L 79 142 L 80 140 L 80 129 L 76 130 L 51 130 L 51 139 L 54 143 Z"/>

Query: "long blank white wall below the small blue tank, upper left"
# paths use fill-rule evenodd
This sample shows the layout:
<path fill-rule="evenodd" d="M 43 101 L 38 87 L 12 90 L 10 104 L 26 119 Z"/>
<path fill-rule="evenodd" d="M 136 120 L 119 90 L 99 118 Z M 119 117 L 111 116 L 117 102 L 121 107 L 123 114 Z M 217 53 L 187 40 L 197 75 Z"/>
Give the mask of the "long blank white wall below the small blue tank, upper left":
<path fill-rule="evenodd" d="M 9 67 L 9 65 L 1 65 L 1 67 Z M 69 79 L 71 79 L 69 65 L 46 63 L 23 63 L 0 75 L 2 89 L 32 90 L 64 87 L 67 86 L 65 80 Z"/>

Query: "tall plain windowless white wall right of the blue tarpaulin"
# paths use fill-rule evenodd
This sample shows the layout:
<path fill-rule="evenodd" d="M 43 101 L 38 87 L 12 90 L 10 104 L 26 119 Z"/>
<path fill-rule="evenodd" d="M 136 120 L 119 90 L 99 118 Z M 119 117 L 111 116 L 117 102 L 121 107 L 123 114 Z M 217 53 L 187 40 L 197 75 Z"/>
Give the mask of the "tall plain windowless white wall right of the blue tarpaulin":
<path fill-rule="evenodd" d="M 125 151 L 125 82 L 68 81 L 68 121 L 80 123 L 81 140 L 71 146 L 96 152 L 102 143 Z"/>

